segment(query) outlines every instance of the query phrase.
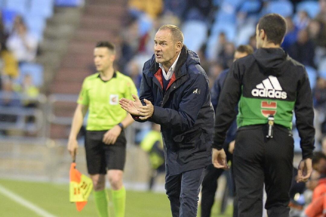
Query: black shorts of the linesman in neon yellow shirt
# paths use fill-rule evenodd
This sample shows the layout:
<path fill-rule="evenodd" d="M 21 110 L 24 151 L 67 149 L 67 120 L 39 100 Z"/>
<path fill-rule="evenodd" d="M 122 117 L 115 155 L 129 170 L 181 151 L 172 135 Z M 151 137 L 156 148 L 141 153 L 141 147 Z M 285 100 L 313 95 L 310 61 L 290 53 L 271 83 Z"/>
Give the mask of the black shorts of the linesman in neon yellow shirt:
<path fill-rule="evenodd" d="M 124 170 L 126 163 L 125 132 L 121 131 L 116 142 L 111 145 L 102 142 L 106 132 L 107 130 L 86 131 L 85 152 L 89 174 L 106 174 L 109 169 Z"/>

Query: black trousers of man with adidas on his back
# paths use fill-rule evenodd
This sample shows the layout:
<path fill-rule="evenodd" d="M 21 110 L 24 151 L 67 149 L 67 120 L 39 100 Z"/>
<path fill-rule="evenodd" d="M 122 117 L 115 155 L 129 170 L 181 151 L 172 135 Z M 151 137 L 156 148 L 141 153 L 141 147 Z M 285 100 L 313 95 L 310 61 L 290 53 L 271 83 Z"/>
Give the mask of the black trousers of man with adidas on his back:
<path fill-rule="evenodd" d="M 237 131 L 233 171 L 239 217 L 262 216 L 264 182 L 268 217 L 289 216 L 293 137 L 279 125 L 274 125 L 273 138 L 266 135 L 267 125 L 244 126 Z"/>

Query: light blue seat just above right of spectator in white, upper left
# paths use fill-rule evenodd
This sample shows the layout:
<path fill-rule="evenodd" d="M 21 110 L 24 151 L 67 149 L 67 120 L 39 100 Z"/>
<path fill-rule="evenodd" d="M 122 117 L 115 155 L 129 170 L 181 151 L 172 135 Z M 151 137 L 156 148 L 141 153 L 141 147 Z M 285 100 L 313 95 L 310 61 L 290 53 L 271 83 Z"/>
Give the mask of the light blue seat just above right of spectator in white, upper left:
<path fill-rule="evenodd" d="M 43 39 L 43 31 L 46 26 L 45 18 L 29 14 L 24 17 L 24 21 L 29 32 L 36 36 L 38 41 L 41 41 Z"/>

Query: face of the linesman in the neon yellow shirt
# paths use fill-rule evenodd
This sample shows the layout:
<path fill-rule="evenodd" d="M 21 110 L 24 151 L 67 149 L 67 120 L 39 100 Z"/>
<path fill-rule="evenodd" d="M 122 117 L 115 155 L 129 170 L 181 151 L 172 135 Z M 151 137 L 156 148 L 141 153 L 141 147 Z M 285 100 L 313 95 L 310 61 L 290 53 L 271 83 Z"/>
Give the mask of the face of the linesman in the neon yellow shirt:
<path fill-rule="evenodd" d="M 114 61 L 114 54 L 108 48 L 95 48 L 94 49 L 94 64 L 98 72 L 107 70 Z"/>

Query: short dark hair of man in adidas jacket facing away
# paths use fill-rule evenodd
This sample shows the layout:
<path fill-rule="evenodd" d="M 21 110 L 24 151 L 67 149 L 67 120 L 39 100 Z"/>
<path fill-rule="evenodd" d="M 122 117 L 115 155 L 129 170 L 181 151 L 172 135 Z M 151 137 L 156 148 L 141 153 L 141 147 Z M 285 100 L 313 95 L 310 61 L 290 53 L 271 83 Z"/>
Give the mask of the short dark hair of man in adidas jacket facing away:
<path fill-rule="evenodd" d="M 280 45 L 286 32 L 286 21 L 279 14 L 267 14 L 260 18 L 258 22 L 258 30 L 263 29 L 267 35 L 267 40 Z"/>

